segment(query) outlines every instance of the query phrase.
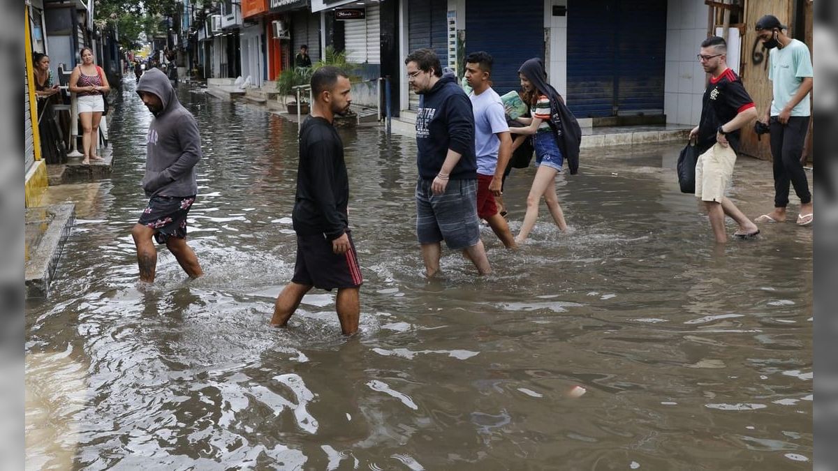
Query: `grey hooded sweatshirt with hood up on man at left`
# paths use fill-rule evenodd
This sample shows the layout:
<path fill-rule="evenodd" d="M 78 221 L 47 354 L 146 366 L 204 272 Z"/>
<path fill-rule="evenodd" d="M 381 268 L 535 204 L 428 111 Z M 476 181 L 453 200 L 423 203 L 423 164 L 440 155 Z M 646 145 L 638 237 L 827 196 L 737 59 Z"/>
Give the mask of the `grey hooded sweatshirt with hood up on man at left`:
<path fill-rule="evenodd" d="M 163 110 L 148 126 L 146 173 L 142 189 L 147 197 L 192 196 L 198 193 L 195 164 L 201 158 L 201 137 L 194 116 L 178 101 L 162 70 L 147 70 L 137 84 L 160 98 Z"/>

